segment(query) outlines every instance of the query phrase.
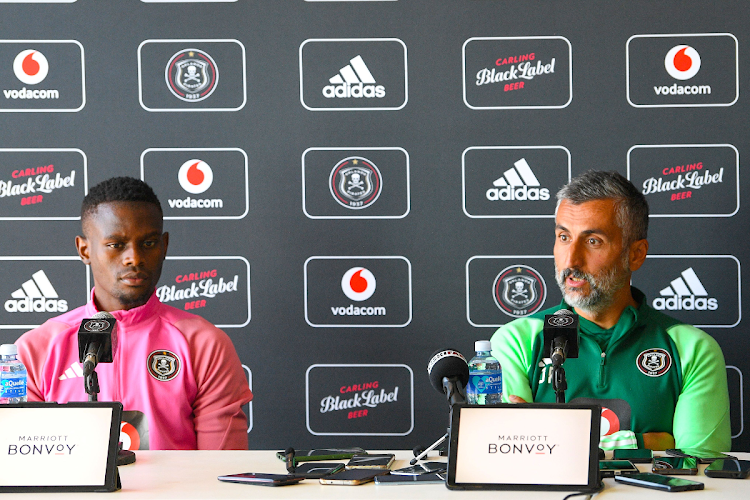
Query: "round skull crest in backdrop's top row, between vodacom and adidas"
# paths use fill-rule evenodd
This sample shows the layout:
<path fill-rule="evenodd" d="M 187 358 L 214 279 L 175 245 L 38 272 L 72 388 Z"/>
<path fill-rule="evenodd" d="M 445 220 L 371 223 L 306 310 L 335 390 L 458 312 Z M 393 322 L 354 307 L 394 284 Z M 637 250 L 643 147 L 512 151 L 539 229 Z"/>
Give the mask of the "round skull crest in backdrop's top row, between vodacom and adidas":
<path fill-rule="evenodd" d="M 186 49 L 172 56 L 165 77 L 169 90 L 178 99 L 197 102 L 206 99 L 216 89 L 219 70 L 206 52 Z"/>

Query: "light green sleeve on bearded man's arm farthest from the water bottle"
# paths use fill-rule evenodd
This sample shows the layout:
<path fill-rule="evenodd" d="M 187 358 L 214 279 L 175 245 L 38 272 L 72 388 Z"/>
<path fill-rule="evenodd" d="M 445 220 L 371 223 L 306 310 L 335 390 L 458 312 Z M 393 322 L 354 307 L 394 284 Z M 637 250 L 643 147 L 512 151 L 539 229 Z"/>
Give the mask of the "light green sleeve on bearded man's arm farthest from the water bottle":
<path fill-rule="evenodd" d="M 724 355 L 716 340 L 689 325 L 667 330 L 682 365 L 682 390 L 674 412 L 678 448 L 729 451 L 729 391 Z"/>

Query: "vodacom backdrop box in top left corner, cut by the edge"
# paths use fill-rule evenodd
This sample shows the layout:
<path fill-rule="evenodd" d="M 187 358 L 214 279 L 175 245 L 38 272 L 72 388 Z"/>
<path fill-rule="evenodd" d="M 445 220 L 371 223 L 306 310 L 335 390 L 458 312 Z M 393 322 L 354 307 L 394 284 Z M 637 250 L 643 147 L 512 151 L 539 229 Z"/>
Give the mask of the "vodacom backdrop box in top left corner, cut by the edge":
<path fill-rule="evenodd" d="M 75 40 L 0 41 L 0 112 L 80 111 L 83 45 Z"/>

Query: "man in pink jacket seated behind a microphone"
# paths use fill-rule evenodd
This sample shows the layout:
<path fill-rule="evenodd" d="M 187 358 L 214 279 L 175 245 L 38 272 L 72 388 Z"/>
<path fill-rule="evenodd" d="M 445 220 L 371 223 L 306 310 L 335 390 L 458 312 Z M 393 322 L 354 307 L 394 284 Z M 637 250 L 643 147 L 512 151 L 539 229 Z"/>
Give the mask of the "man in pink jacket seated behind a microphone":
<path fill-rule="evenodd" d="M 169 233 L 154 192 L 138 179 L 106 180 L 83 200 L 81 225 L 76 247 L 94 289 L 88 304 L 16 342 L 29 401 L 87 400 L 78 327 L 107 311 L 117 319 L 118 346 L 113 363 L 96 368 L 99 400 L 122 402 L 126 448 L 247 449 L 241 407 L 252 393 L 232 341 L 156 297 Z"/>

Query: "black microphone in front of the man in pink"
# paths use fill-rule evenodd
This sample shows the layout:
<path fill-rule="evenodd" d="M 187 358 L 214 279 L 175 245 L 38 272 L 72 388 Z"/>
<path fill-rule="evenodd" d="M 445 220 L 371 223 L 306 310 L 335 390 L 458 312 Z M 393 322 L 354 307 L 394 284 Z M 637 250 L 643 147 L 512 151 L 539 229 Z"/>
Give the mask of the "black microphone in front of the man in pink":
<path fill-rule="evenodd" d="M 81 320 L 78 328 L 78 361 L 83 363 L 83 375 L 87 377 L 99 363 L 111 363 L 113 351 L 117 351 L 115 317 L 108 312 L 98 312 L 93 318 Z"/>

